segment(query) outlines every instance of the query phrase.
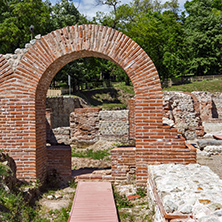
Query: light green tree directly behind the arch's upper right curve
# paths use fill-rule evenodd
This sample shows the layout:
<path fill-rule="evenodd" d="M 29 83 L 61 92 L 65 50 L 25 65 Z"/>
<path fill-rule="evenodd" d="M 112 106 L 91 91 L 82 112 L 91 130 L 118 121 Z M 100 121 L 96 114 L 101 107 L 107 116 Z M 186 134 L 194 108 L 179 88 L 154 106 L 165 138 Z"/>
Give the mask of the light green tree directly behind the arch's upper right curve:
<path fill-rule="evenodd" d="M 164 10 L 163 10 L 164 9 Z M 178 2 L 134 0 L 117 8 L 118 29 L 135 40 L 151 57 L 161 79 L 181 76 L 185 69 L 185 33 Z"/>

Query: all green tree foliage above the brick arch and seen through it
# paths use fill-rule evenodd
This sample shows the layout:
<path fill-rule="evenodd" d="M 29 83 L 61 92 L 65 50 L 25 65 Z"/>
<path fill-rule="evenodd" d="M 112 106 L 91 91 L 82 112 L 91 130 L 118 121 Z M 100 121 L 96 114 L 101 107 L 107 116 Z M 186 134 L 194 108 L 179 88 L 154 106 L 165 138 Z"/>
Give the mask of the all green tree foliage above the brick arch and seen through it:
<path fill-rule="evenodd" d="M 153 60 L 161 80 L 222 73 L 221 0 L 187 1 L 183 12 L 177 0 L 164 4 L 159 0 L 132 0 L 130 4 L 94 1 L 108 5 L 111 12 L 97 12 L 89 20 L 69 0 L 54 5 L 49 0 L 0 0 L 0 53 L 24 47 L 31 38 L 30 25 L 34 25 L 34 35 L 44 35 L 64 26 L 94 23 L 115 28 L 135 40 Z M 68 75 L 76 89 L 100 79 L 129 83 L 123 70 L 98 58 L 69 63 L 53 83 L 67 82 Z"/>

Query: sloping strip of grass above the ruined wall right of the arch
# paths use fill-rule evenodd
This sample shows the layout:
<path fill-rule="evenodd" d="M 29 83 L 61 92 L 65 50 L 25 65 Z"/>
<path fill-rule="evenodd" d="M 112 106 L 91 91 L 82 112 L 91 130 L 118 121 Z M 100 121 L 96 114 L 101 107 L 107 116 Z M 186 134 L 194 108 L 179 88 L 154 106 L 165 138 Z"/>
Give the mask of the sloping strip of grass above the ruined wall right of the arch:
<path fill-rule="evenodd" d="M 201 82 L 193 82 L 184 85 L 172 86 L 170 88 L 164 88 L 165 91 L 182 91 L 182 92 L 193 92 L 193 91 L 205 91 L 205 92 L 222 92 L 222 80 L 204 80 Z"/>

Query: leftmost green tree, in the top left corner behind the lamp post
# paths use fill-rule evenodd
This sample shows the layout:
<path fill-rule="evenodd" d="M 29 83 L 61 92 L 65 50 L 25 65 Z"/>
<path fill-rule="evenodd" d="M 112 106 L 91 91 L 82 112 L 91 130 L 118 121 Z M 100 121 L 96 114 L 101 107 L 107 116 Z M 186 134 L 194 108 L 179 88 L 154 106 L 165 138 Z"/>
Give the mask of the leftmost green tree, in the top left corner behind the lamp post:
<path fill-rule="evenodd" d="M 30 25 L 35 34 L 46 34 L 49 6 L 42 0 L 1 0 L 0 53 L 10 53 L 30 41 Z"/>

